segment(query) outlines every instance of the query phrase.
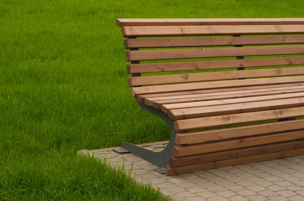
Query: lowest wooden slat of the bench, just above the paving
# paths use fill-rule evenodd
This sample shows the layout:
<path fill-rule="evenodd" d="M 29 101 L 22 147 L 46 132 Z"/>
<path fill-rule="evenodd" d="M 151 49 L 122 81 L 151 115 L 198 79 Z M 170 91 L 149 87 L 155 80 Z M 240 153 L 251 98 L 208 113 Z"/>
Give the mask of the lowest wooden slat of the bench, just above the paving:
<path fill-rule="evenodd" d="M 241 165 L 241 164 L 252 163 L 252 162 L 267 161 L 267 160 L 271 160 L 271 159 L 297 156 L 297 155 L 302 155 L 303 153 L 304 153 L 304 148 L 298 148 L 298 149 L 286 150 L 286 151 L 275 152 L 275 153 L 270 153 L 270 154 L 255 155 L 255 156 L 250 156 L 250 157 L 229 159 L 229 160 L 209 162 L 209 163 L 204 163 L 204 164 L 176 167 L 176 168 L 171 168 L 169 165 L 167 165 L 167 167 L 165 169 L 165 173 L 166 173 L 166 175 L 170 176 L 170 175 L 174 175 L 174 174 L 196 172 L 196 171 L 215 169 L 215 168 L 221 168 L 221 167 L 226 167 L 226 166 Z"/>

